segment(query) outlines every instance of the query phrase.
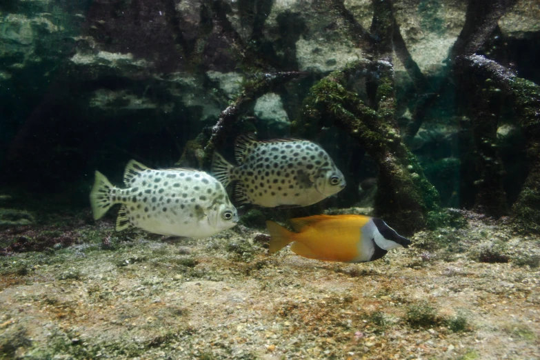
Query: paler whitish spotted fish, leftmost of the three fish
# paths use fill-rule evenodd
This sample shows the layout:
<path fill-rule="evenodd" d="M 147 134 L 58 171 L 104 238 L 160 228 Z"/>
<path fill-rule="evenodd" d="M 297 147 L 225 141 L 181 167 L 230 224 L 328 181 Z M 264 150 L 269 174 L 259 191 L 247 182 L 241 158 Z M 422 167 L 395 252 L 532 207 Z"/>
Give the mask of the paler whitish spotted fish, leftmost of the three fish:
<path fill-rule="evenodd" d="M 200 239 L 238 222 L 225 188 L 206 172 L 192 169 L 152 170 L 131 160 L 121 189 L 96 171 L 90 203 L 94 219 L 121 204 L 116 230 L 131 226 L 148 232 Z"/>

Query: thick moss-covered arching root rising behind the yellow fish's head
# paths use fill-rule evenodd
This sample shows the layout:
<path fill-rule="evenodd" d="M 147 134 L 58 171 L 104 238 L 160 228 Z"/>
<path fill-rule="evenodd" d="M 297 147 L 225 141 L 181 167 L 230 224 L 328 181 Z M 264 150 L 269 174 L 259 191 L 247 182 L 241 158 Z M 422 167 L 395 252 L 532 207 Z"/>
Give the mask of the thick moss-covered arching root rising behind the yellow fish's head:
<path fill-rule="evenodd" d="M 347 88 L 351 76 L 361 70 L 377 72 L 379 76 L 377 110 L 366 106 L 357 93 Z M 443 223 L 441 218 L 445 215 L 441 213 L 437 189 L 401 141 L 394 119 L 395 106 L 390 63 L 353 61 L 312 86 L 303 102 L 303 113 L 292 128 L 310 137 L 320 128 L 333 125 L 359 141 L 379 166 L 375 214 L 403 234 L 411 234 L 427 223 Z"/>

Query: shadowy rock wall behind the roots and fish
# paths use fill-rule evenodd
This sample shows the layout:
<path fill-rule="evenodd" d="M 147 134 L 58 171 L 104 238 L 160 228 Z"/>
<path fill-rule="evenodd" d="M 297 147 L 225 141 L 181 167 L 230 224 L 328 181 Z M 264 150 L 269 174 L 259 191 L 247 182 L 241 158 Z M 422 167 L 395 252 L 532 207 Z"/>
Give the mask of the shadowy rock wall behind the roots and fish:
<path fill-rule="evenodd" d="M 370 27 L 371 1 L 343 5 L 363 28 Z M 445 78 L 444 61 L 463 28 L 466 8 L 467 1 L 394 3 L 401 36 L 429 89 Z M 346 24 L 326 9 L 324 1 L 295 0 L 3 1 L 1 183 L 60 193 L 86 206 L 95 169 L 114 181 L 131 158 L 172 166 L 186 143 L 208 132 L 246 79 L 262 70 L 306 72 L 263 94 L 245 114 L 262 138 L 288 135 L 309 87 L 366 55 L 346 35 Z M 539 16 L 535 1 L 518 1 L 481 53 L 538 83 Z M 414 112 L 408 99 L 412 81 L 397 57 L 394 65 L 398 115 L 406 126 Z M 459 186 L 466 177 L 459 170 L 459 148 L 466 146 L 459 137 L 463 115 L 452 90 L 438 94 L 408 144 L 443 206 L 471 206 L 470 194 L 457 195 L 468 191 Z M 528 172 L 522 134 L 509 123 L 499 126 L 497 137 L 512 203 Z M 350 145 L 338 148 L 337 139 Z M 346 172 L 348 198 L 361 201 L 355 189 L 377 175 L 376 166 L 339 132 L 316 140 Z M 183 160 L 184 166 L 197 166 L 189 157 Z"/>

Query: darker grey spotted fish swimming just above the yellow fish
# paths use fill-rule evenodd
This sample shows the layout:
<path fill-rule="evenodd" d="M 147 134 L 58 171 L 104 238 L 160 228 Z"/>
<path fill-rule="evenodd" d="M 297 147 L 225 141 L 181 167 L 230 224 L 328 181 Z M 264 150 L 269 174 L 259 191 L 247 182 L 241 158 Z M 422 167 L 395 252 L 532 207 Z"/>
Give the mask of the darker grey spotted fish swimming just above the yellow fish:
<path fill-rule="evenodd" d="M 257 141 L 241 135 L 234 166 L 214 152 L 212 174 L 227 187 L 234 182 L 237 205 L 308 206 L 342 190 L 345 179 L 326 151 L 311 141 Z"/>

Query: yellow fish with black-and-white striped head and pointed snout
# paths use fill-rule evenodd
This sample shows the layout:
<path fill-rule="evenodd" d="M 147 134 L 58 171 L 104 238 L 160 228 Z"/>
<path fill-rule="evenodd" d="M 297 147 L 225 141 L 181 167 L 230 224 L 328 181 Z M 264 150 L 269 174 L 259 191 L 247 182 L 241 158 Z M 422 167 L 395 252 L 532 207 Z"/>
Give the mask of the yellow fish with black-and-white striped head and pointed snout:
<path fill-rule="evenodd" d="M 292 243 L 290 250 L 310 259 L 363 263 L 381 259 L 388 250 L 408 248 L 410 240 L 384 221 L 363 215 L 315 215 L 290 219 L 292 232 L 266 221 L 270 254 Z"/>

